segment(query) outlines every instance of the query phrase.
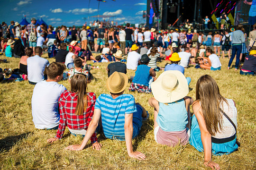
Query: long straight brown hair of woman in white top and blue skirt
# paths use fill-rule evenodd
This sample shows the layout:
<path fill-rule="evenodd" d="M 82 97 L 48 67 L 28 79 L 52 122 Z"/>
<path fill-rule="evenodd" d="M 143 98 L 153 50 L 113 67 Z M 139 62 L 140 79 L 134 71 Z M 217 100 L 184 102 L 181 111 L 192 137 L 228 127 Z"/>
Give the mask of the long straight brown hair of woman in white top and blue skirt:
<path fill-rule="evenodd" d="M 219 86 L 209 75 L 201 76 L 196 83 L 196 100 L 201 102 L 202 114 L 208 132 L 214 136 L 222 130 L 220 105 L 227 100 L 219 93 Z"/>

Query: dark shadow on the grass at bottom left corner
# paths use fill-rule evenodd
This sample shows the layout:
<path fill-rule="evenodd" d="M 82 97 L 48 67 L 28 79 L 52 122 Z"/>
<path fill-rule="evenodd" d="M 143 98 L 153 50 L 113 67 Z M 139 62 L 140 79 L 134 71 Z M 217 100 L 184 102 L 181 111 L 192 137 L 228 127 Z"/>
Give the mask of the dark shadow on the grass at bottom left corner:
<path fill-rule="evenodd" d="M 17 136 L 7 136 L 3 139 L 0 139 L 0 153 L 8 152 L 12 146 L 17 144 L 23 138 L 26 138 L 26 136 L 31 133 L 33 134 L 33 132 L 27 132 Z"/>

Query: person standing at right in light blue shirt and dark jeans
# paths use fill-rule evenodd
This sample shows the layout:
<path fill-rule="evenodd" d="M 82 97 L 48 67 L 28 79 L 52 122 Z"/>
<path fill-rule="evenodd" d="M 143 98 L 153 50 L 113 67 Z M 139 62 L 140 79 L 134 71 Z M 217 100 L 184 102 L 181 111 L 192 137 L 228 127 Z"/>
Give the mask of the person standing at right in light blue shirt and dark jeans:
<path fill-rule="evenodd" d="M 235 55 L 237 54 L 235 71 L 238 70 L 238 66 L 240 62 L 240 53 L 242 51 L 242 43 L 245 42 L 245 35 L 241 31 L 242 29 L 243 29 L 243 25 L 238 24 L 237 30 L 233 32 L 233 36 L 232 36 L 232 55 L 231 55 L 231 58 L 229 59 L 228 69 L 230 68 L 232 61 L 235 58 Z"/>

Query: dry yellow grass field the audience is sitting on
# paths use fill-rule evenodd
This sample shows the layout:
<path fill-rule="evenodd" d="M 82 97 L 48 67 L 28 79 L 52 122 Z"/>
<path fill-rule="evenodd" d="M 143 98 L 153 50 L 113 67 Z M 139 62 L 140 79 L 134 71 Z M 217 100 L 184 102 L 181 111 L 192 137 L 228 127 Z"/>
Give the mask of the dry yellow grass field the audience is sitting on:
<path fill-rule="evenodd" d="M 0 63 L 0 68 L 18 68 L 19 59 L 4 55 L 0 59 L 9 61 Z M 223 170 L 256 169 L 256 77 L 240 76 L 234 68 L 227 69 L 228 58 L 220 60 L 220 71 L 194 67 L 185 69 L 185 76 L 192 78 L 192 90 L 188 96 L 195 99 L 195 85 L 201 75 L 209 74 L 217 81 L 220 93 L 237 103 L 238 140 L 241 147 L 229 155 L 213 156 L 212 160 L 219 163 Z M 158 65 L 164 67 L 165 63 Z M 95 79 L 88 85 L 89 91 L 97 96 L 108 93 L 107 63 L 88 64 L 100 66 L 99 69 L 91 70 Z M 157 72 L 157 76 L 161 73 Z M 134 71 L 128 70 L 128 77 L 134 74 Z M 70 89 L 68 81 L 59 83 Z M 210 170 L 203 165 L 203 153 L 192 145 L 168 147 L 155 142 L 153 108 L 147 102 L 152 94 L 131 93 L 128 88 L 125 90 L 125 93 L 134 95 L 136 102 L 140 102 L 150 113 L 140 135 L 133 140 L 134 150 L 146 155 L 145 161 L 138 161 L 128 156 L 125 142 L 106 139 L 102 135 L 98 135 L 103 145 L 101 151 L 93 150 L 91 144 L 82 151 L 66 151 L 66 146 L 80 144 L 82 141 L 81 137 L 70 135 L 67 128 L 62 140 L 48 144 L 46 139 L 54 137 L 56 130 L 39 130 L 34 127 L 31 115 L 33 88 L 34 85 L 28 84 L 28 81 L 0 84 L 1 170 Z"/>

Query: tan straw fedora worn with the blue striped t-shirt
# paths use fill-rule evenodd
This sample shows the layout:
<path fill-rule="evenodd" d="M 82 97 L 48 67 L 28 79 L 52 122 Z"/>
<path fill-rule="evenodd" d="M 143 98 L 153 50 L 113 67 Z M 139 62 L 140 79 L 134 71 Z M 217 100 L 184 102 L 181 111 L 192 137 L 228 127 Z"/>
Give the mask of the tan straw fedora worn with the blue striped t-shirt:
<path fill-rule="evenodd" d="M 121 93 L 128 84 L 128 76 L 124 73 L 115 71 L 107 80 L 107 88 L 110 93 Z"/>

